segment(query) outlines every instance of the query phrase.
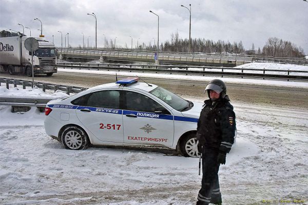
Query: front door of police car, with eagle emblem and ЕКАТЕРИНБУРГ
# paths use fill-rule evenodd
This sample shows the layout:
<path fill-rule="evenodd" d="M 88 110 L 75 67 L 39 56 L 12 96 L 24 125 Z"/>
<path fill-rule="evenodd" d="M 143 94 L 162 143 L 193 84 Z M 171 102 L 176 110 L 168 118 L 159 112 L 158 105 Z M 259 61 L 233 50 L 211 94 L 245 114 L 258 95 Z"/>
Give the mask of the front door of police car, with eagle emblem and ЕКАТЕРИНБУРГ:
<path fill-rule="evenodd" d="M 124 142 L 127 144 L 172 146 L 174 116 L 157 101 L 131 91 L 123 91 Z"/>

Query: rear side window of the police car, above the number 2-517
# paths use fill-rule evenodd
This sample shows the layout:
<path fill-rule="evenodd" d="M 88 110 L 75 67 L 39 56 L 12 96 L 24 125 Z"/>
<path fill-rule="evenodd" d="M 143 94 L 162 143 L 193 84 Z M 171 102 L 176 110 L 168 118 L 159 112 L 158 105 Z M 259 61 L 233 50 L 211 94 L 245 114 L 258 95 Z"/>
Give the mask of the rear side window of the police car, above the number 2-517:
<path fill-rule="evenodd" d="M 98 108 L 120 108 L 120 91 L 119 90 L 106 90 L 91 93 L 87 106 Z"/>

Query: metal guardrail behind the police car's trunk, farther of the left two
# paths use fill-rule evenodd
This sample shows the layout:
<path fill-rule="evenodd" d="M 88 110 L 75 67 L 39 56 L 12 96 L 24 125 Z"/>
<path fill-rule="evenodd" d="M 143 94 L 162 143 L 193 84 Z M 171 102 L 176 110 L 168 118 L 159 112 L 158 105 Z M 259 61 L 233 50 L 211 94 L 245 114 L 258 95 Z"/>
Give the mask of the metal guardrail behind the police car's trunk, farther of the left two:
<path fill-rule="evenodd" d="M 9 84 L 14 84 L 14 88 L 17 85 L 22 85 L 23 89 L 26 89 L 26 86 L 32 87 L 32 81 L 29 80 L 21 80 L 21 79 L 10 79 L 10 78 L 0 78 L 0 86 L 2 83 L 6 84 L 6 88 L 9 89 Z M 50 84 L 50 83 L 42 83 L 42 82 L 34 82 L 34 86 L 37 88 L 42 88 L 43 92 L 46 90 L 62 90 L 65 91 L 66 94 L 70 93 L 79 93 L 83 90 L 87 90 L 88 88 L 84 87 L 76 87 L 76 86 L 65 86 L 65 85 L 57 85 L 57 84 Z"/>

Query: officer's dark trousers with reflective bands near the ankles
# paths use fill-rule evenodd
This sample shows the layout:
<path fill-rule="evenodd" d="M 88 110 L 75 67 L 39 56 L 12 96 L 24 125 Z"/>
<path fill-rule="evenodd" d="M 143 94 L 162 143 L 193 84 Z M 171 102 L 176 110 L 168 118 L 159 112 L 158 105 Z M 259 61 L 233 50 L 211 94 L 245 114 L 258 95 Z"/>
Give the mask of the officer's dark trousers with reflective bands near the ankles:
<path fill-rule="evenodd" d="M 217 162 L 218 148 L 203 147 L 202 150 L 202 182 L 198 193 L 197 205 L 221 203 Z"/>

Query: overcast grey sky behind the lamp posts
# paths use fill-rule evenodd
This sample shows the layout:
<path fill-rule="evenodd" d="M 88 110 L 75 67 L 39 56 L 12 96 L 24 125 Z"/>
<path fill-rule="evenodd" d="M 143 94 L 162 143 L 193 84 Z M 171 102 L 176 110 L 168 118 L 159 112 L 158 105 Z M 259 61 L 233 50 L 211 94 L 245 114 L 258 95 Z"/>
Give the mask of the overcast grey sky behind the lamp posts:
<path fill-rule="evenodd" d="M 13 29 L 23 32 L 22 26 L 31 28 L 32 36 L 38 36 L 43 22 L 43 34 L 54 44 L 63 46 L 69 33 L 71 46 L 84 42 L 95 46 L 95 18 L 97 15 L 98 47 L 106 40 L 117 45 L 131 46 L 140 43 L 157 43 L 159 15 L 159 41 L 170 40 L 178 31 L 181 38 L 189 36 L 189 8 L 191 4 L 191 37 L 230 43 L 242 40 L 245 49 L 263 47 L 269 37 L 288 40 L 308 53 L 308 3 L 302 0 L 70 0 L 70 1 L 17 1 L 0 0 L 0 30 Z M 30 35 L 25 28 L 25 34 Z M 88 38 L 88 36 L 90 36 Z"/>

